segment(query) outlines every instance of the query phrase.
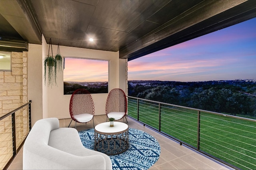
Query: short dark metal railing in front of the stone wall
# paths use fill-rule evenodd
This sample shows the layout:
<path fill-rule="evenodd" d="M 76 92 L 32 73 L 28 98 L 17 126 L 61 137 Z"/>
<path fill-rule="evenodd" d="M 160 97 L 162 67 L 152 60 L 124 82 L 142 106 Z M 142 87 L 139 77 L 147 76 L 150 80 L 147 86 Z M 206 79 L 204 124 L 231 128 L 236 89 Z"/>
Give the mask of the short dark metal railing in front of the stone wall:
<path fill-rule="evenodd" d="M 4 170 L 6 169 L 6 168 L 8 168 L 8 166 L 10 165 L 10 163 L 12 162 L 12 160 L 14 159 L 14 157 L 16 156 L 16 153 L 21 149 L 21 147 L 22 147 L 22 145 L 23 145 L 23 143 L 24 143 L 24 141 L 25 141 L 25 139 L 26 139 L 26 136 L 28 135 L 28 133 L 29 133 L 29 131 L 31 130 L 31 103 L 32 103 L 32 101 L 30 100 L 28 103 L 26 103 L 26 104 L 24 104 L 24 105 L 22 105 L 22 106 L 20 106 L 20 107 L 18 107 L 17 109 L 14 109 L 13 111 L 11 111 L 11 112 L 9 112 L 9 113 L 7 113 L 6 115 L 3 115 L 2 117 L 0 117 L 0 122 L 1 122 L 1 124 L 4 124 L 4 123 L 2 123 L 2 121 L 6 118 L 6 122 L 8 122 L 9 120 L 7 119 L 9 116 L 11 116 L 11 129 L 12 129 L 12 136 L 9 138 L 10 140 L 12 140 L 12 154 L 10 155 L 10 159 L 7 161 L 7 163 L 4 165 Z M 16 121 L 16 117 L 17 116 L 15 116 L 15 113 L 17 112 L 17 111 L 20 111 L 20 109 L 22 109 L 23 107 L 25 107 L 25 106 L 27 106 L 28 105 L 28 117 L 27 117 L 27 119 L 26 119 L 26 122 L 20 122 L 20 120 L 17 122 Z M 21 113 L 21 115 L 23 116 L 23 113 Z M 28 122 L 27 122 L 28 121 Z M 19 127 L 19 129 L 20 130 L 22 130 L 22 132 L 19 132 L 19 130 L 18 131 L 16 131 L 17 130 L 17 127 L 16 127 L 16 124 L 17 123 L 19 123 L 19 124 L 22 124 L 22 125 L 27 125 L 27 123 L 28 123 L 28 131 L 27 131 L 27 133 L 26 134 L 24 134 L 24 132 L 23 132 L 23 128 L 20 128 Z M 8 124 L 8 123 L 6 123 L 6 124 Z M 9 125 L 6 125 L 6 126 L 9 126 Z M 3 131 L 6 131 L 6 129 L 5 129 L 5 127 L 3 128 Z M 9 136 L 8 135 L 9 134 L 9 132 L 7 131 L 7 132 L 4 132 L 3 134 L 2 134 L 2 138 L 1 138 L 1 143 L 2 142 L 4 142 L 4 141 L 2 141 L 2 140 L 5 140 L 5 137 L 4 136 Z M 24 138 L 24 139 L 21 139 L 21 141 L 17 141 L 17 134 L 18 135 L 20 135 L 20 134 L 22 134 L 23 136 L 21 137 L 21 138 Z M 8 138 L 8 137 L 6 137 L 6 138 Z M 5 141 L 6 143 L 8 143 L 8 140 L 6 140 Z M 18 146 L 18 149 L 17 149 L 17 144 L 19 145 Z M 8 144 L 6 144 L 6 145 L 8 145 Z M 6 149 L 6 152 L 7 152 L 7 155 L 8 155 L 8 148 Z M 1 154 L 1 156 L 2 156 L 2 154 Z M 6 159 L 6 158 L 5 158 Z M 1 167 L 2 167 L 3 165 L 1 165 Z"/>

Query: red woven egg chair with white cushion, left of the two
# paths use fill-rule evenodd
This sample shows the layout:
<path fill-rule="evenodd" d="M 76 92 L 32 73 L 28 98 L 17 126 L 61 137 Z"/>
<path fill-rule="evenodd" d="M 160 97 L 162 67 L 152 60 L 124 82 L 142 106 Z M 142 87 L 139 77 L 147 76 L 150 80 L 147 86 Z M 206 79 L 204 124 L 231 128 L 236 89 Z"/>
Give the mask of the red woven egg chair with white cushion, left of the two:
<path fill-rule="evenodd" d="M 92 120 L 94 127 L 94 103 L 88 90 L 78 89 L 73 92 L 69 103 L 69 113 L 72 120 L 78 123 L 87 123 Z"/>

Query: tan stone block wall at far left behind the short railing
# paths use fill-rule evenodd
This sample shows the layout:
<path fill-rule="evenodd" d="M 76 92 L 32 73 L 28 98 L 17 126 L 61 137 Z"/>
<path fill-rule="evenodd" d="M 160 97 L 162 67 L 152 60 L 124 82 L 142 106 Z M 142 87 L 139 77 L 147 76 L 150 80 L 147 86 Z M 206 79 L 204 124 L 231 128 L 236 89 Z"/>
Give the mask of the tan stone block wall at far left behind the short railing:
<path fill-rule="evenodd" d="M 0 71 L 0 117 L 28 102 L 28 52 L 12 52 L 12 71 Z M 16 111 L 16 148 L 28 134 L 28 106 Z M 12 157 L 12 116 L 0 121 L 0 169 Z"/>

